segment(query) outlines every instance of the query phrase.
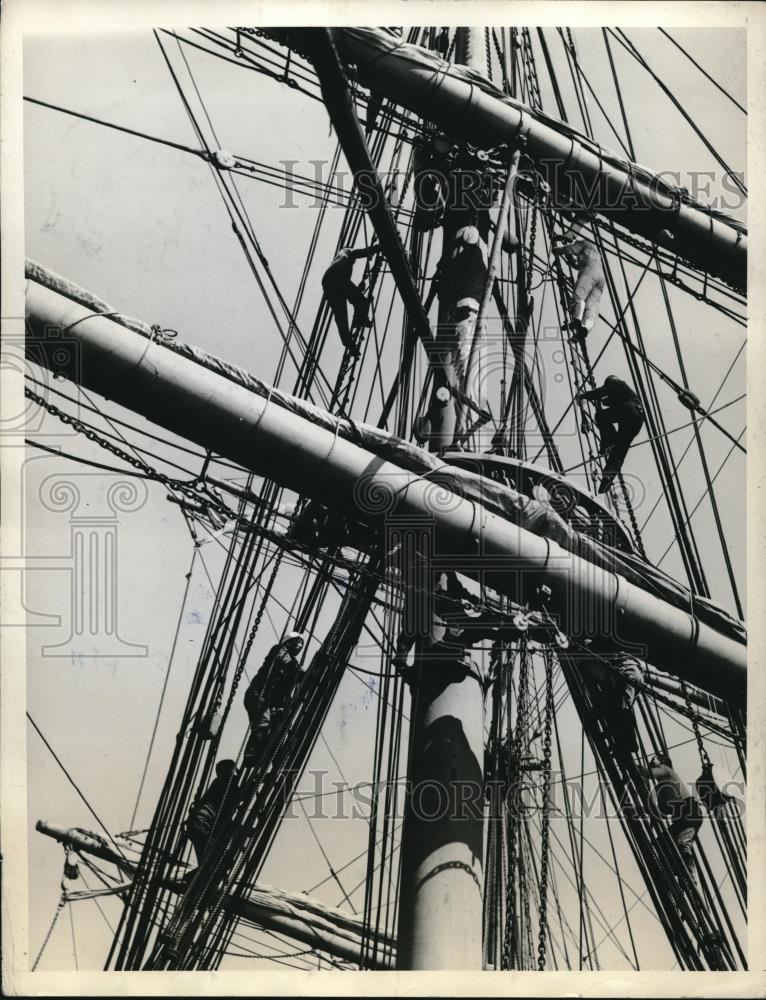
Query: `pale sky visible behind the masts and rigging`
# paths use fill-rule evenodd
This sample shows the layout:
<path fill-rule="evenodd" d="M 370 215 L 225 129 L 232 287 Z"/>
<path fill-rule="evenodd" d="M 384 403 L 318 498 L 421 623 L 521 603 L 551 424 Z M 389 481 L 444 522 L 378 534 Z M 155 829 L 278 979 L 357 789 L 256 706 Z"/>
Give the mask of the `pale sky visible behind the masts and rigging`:
<path fill-rule="evenodd" d="M 562 49 L 552 29 L 547 32 L 565 100 L 571 114 L 575 102 L 567 71 L 562 63 Z M 673 32 L 714 77 L 721 80 L 733 96 L 745 103 L 745 36 L 732 29 L 681 29 Z M 630 29 L 633 39 L 650 65 L 673 89 L 678 99 L 703 129 L 713 145 L 736 168 L 745 164 L 745 118 L 691 66 L 670 42 L 656 31 Z M 617 102 L 611 85 L 600 32 L 581 29 L 576 32 L 580 58 L 594 89 L 621 132 Z M 185 74 L 178 48 L 164 38 L 174 65 L 190 95 L 193 89 Z M 639 162 L 656 170 L 717 170 L 710 154 L 680 118 L 667 98 L 643 70 L 616 43 L 613 52 L 625 93 L 631 132 Z M 327 114 L 320 104 L 291 91 L 273 80 L 224 63 L 204 53 L 189 49 L 189 65 L 203 95 L 210 119 L 222 148 L 240 156 L 277 165 L 280 160 L 299 160 L 296 171 L 312 173 L 311 160 L 329 161 L 335 137 L 330 134 Z M 25 94 L 60 104 L 73 110 L 119 123 L 153 135 L 196 146 L 194 134 L 170 79 L 157 44 L 151 34 L 126 36 L 27 38 L 24 48 Z M 553 113 L 555 104 L 547 86 L 542 59 L 538 72 L 543 81 L 545 107 Z M 195 112 L 198 110 L 194 99 Z M 596 136 L 605 145 L 617 149 L 609 126 L 591 104 Z M 574 124 L 579 120 L 574 117 Z M 104 129 L 45 108 L 25 107 L 25 211 L 27 253 L 46 267 L 57 271 L 115 308 L 179 331 L 192 344 L 219 354 L 227 360 L 251 368 L 267 380 L 273 377 L 281 342 L 256 287 L 239 244 L 231 231 L 228 217 L 213 184 L 209 167 L 196 157 L 142 139 Z M 209 131 L 208 131 L 209 134 Z M 326 179 L 325 174 L 325 179 Z M 238 179 L 239 190 L 251 214 L 255 232 L 276 280 L 291 302 L 297 290 L 305 259 L 306 246 L 316 217 L 311 200 L 296 196 L 297 208 L 280 208 L 283 192 L 255 180 Z M 687 186 L 690 181 L 683 181 Z M 710 193 L 718 193 L 717 182 Z M 744 212 L 737 213 L 744 219 Z M 323 227 L 322 240 L 309 277 L 307 293 L 299 316 L 304 333 L 310 332 L 319 302 L 319 278 L 323 264 L 335 247 L 343 211 L 333 209 Z M 432 273 L 432 272 L 429 272 Z M 628 269 L 629 284 L 635 274 Z M 632 279 L 632 280 L 631 280 Z M 381 299 L 377 320 L 382 324 L 387 310 L 390 278 Z M 542 291 L 538 294 L 542 294 Z M 551 298 L 551 290 L 547 292 Z M 691 388 L 706 406 L 719 388 L 720 381 L 741 347 L 742 327 L 720 313 L 696 302 L 669 286 L 682 342 Z M 635 298 L 647 350 L 658 365 L 678 380 L 673 345 L 667 318 L 654 279 L 647 279 Z M 548 307 L 550 310 L 550 303 Z M 602 311 L 610 317 L 606 298 Z M 550 316 L 554 314 L 550 311 Z M 400 312 L 394 310 L 389 334 L 389 348 L 384 357 L 384 385 L 390 382 L 398 351 Z M 591 335 L 595 348 L 605 338 L 601 323 Z M 615 338 L 616 340 L 616 338 Z M 555 346 L 542 358 L 546 373 L 546 412 L 555 423 L 566 405 L 565 383 L 556 378 L 563 372 L 554 356 Z M 322 366 L 329 378 L 337 370 L 339 352 L 334 329 Z M 558 364 L 558 369 L 557 369 Z M 610 372 L 625 376 L 622 351 L 613 344 L 597 368 L 603 377 Z M 359 403 L 354 414 L 364 413 L 364 400 L 373 376 L 368 357 L 360 379 Z M 293 371 L 289 368 L 281 384 L 290 388 Z M 735 399 L 744 392 L 745 357 L 740 356 L 717 405 Z M 74 396 L 71 385 L 56 388 Z M 666 387 L 658 388 L 669 428 L 687 423 L 688 411 Z M 101 402 L 97 400 L 97 402 Z M 374 397 L 372 420 L 377 419 L 380 397 Z M 139 418 L 120 413 L 111 405 L 107 412 L 145 425 Z M 720 422 L 736 437 L 744 426 L 744 400 L 718 415 Z M 95 447 L 85 448 L 71 435 L 62 435 L 60 425 L 46 420 L 41 438 L 49 445 L 60 444 L 64 450 L 87 454 L 97 461 L 111 463 L 110 456 Z M 152 428 L 148 428 L 152 430 Z M 154 429 L 156 430 L 156 429 Z M 567 437 L 567 430 L 570 436 Z M 162 437 L 163 432 L 159 431 Z M 703 440 L 710 468 L 715 472 L 730 448 L 730 442 L 715 428 L 704 426 Z M 678 459 L 690 440 L 690 430 L 672 435 L 673 452 Z M 164 435 L 167 438 L 167 435 Z M 642 435 L 640 440 L 643 440 Z M 131 440 L 138 440 L 131 435 Z M 579 452 L 571 437 L 571 424 L 565 422 L 559 440 L 565 465 L 575 465 Z M 171 455 L 169 449 L 150 442 L 147 447 Z M 197 451 L 197 449 L 195 449 Z M 190 461 L 189 468 L 199 466 Z M 699 458 L 691 449 L 680 467 L 680 481 L 687 501 L 693 507 L 704 491 Z M 643 523 L 658 496 L 658 480 L 651 464 L 648 445 L 637 446 L 629 456 L 626 471 L 645 485 L 645 497 L 637 505 L 639 523 Z M 97 516 L 105 510 L 105 489 L 110 477 L 91 475 L 85 466 L 75 466 L 53 457 L 29 452 L 28 523 L 25 552 L 40 557 L 45 571 L 30 574 L 27 605 L 30 610 L 62 616 L 58 626 L 33 627 L 29 634 L 28 691 L 29 711 L 35 718 L 65 766 L 78 782 L 96 812 L 111 832 L 128 828 L 138 791 L 144 759 L 151 735 L 160 690 L 165 677 L 173 634 L 184 591 L 184 575 L 189 569 L 192 544 L 178 509 L 165 500 L 166 491 L 148 486 L 147 500 L 137 512 L 121 516 L 117 529 L 118 546 L 118 618 L 122 639 L 147 647 L 146 656 L 113 658 L 102 649 L 87 645 L 82 656 L 52 658 L 43 655 L 43 645 L 67 640 L 69 630 L 69 584 L 67 567 L 71 565 L 70 527 L 67 514 L 55 513 L 41 506 L 39 489 L 43 480 L 58 474 L 75 481 L 81 491 L 82 507 L 78 513 Z M 730 542 L 730 554 L 738 580 L 745 577 L 745 459 L 740 452 L 729 458 L 716 481 L 721 515 Z M 139 489 L 141 485 L 139 484 Z M 693 524 L 703 552 L 703 561 L 713 596 L 731 608 L 731 595 L 710 507 L 702 504 Z M 200 532 L 205 537 L 205 532 Z M 657 560 L 672 541 L 667 513 L 660 505 L 650 521 L 644 542 L 650 559 Z M 206 544 L 201 555 L 215 582 L 222 566 L 223 550 L 215 542 Z M 52 560 L 60 560 L 62 569 L 51 569 Z M 671 550 L 663 568 L 683 579 L 680 560 Z M 47 568 L 46 568 L 47 567 Z M 285 612 L 279 602 L 289 604 L 295 592 L 298 574 L 285 572 L 269 612 L 264 619 L 258 642 L 251 657 L 251 669 L 260 663 L 276 632 L 281 632 Z M 744 586 L 744 584 L 743 584 Z M 198 558 L 191 578 L 189 597 L 183 611 L 176 656 L 170 674 L 168 695 L 160 720 L 159 733 L 151 758 L 147 782 L 139 804 L 137 828 L 145 828 L 151 818 L 161 781 L 169 760 L 176 724 L 184 704 L 195 658 L 210 614 L 214 590 Z M 332 608 L 320 622 L 319 638 L 331 621 Z M 273 625 L 272 625 L 273 623 Z M 315 643 L 310 651 L 316 648 Z M 96 655 L 95 657 L 93 654 Z M 376 670 L 379 659 L 364 650 L 355 662 L 364 669 Z M 372 773 L 372 748 L 376 717 L 374 682 L 361 673 L 349 672 L 317 743 L 309 769 L 324 769 L 330 781 L 350 783 L 368 780 Z M 573 709 L 561 710 L 562 720 L 573 720 Z M 227 726 L 221 755 L 236 753 L 245 732 L 241 698 Z M 579 733 L 569 728 L 565 739 L 579 754 Z M 678 742 L 687 741 L 689 733 L 672 725 L 668 739 L 675 732 Z M 711 755 L 734 776 L 736 766 L 731 755 L 711 747 Z M 30 952 L 37 953 L 48 928 L 59 894 L 62 851 L 52 841 L 34 833 L 34 822 L 45 817 L 65 826 L 97 829 L 95 820 L 66 782 L 49 752 L 33 731 L 29 736 L 29 821 L 30 821 Z M 586 763 L 589 755 L 586 753 Z M 684 746 L 677 761 L 687 776 L 698 773 L 696 750 Z M 587 767 L 586 767 L 587 770 Z M 591 779 L 592 780 L 592 779 Z M 301 786 L 311 791 L 311 781 Z M 334 802 L 334 798 L 332 799 Z M 311 806 L 311 801 L 304 801 Z M 297 810 L 300 813 L 300 810 Z M 332 815 L 332 813 L 330 813 Z M 604 824 L 591 824 L 594 843 L 605 841 Z M 359 854 L 366 845 L 367 827 L 362 821 L 322 819 L 314 822 L 314 831 L 338 869 Z M 565 828 L 561 826 L 561 834 Z M 619 832 L 617 833 L 619 838 Z M 620 852 L 624 876 L 639 894 L 640 877 L 627 850 Z M 349 866 L 341 878 L 347 891 L 364 878 L 364 859 Z M 263 873 L 263 880 L 290 889 L 310 889 L 327 876 L 327 865 L 308 824 L 300 816 L 285 824 Z M 92 878 L 86 877 L 92 883 Z M 611 878 L 611 880 L 610 880 Z M 592 879 L 592 881 L 589 881 Z M 560 880 L 563 882 L 563 878 Z M 600 866 L 595 855 L 586 851 L 586 882 L 608 916 L 620 914 L 613 877 Z M 330 880 L 315 890 L 325 902 L 338 905 L 341 894 Z M 632 897 L 629 895 L 629 902 Z M 562 905 L 567 891 L 561 889 Z M 357 909 L 363 903 L 363 888 L 352 899 Z M 570 903 L 573 902 L 569 898 Z M 118 904 L 101 903 L 103 914 L 115 926 Z M 80 968 L 101 968 L 111 940 L 104 915 L 92 902 L 73 908 Z M 576 921 L 576 911 L 573 920 Z M 670 968 L 672 956 L 658 925 L 641 905 L 632 913 L 641 930 L 640 956 L 647 968 Z M 265 946 L 262 934 L 248 931 Z M 597 939 L 601 934 L 597 933 Z M 274 946 L 274 941 L 271 939 Z M 298 946 L 296 946 L 297 948 Z M 289 945 L 284 946 L 290 951 Z M 617 952 L 607 944 L 604 960 L 613 967 L 620 963 Z M 54 931 L 41 963 L 41 969 L 74 968 L 69 914 L 64 913 Z M 266 963 L 227 959 L 224 968 L 250 968 Z"/>

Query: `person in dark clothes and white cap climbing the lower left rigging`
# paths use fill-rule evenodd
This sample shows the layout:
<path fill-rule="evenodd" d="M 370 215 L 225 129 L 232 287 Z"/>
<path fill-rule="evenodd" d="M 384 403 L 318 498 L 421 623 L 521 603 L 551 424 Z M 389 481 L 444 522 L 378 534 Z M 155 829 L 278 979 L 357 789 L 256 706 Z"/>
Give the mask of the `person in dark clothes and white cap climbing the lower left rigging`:
<path fill-rule="evenodd" d="M 245 748 L 244 765 L 252 767 L 276 731 L 301 678 L 298 656 L 303 636 L 291 632 L 272 646 L 263 665 L 245 692 L 245 710 L 250 720 L 250 739 Z"/>

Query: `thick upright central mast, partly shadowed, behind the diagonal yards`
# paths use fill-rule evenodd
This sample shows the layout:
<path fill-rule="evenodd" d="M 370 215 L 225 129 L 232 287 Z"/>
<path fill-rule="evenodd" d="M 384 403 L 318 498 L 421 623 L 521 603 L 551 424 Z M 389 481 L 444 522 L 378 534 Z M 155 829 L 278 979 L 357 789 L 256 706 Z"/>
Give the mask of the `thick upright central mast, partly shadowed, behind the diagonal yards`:
<path fill-rule="evenodd" d="M 455 58 L 481 70 L 479 34 L 477 28 L 458 28 Z M 458 162 L 446 181 L 438 362 L 431 368 L 427 411 L 432 451 L 449 448 L 467 417 L 454 390 L 471 396 L 468 369 L 477 332 L 477 290 L 487 277 L 488 214 L 481 205 L 481 175 L 474 164 Z M 459 568 L 453 563 L 446 572 L 434 571 L 434 562 L 444 554 L 430 548 L 424 554 L 430 564 L 424 581 L 429 590 L 434 584 L 446 589 L 447 573 Z M 435 603 L 415 644 L 397 968 L 480 969 L 484 703 L 469 664 L 445 662 L 444 654 L 439 655 L 446 629 Z"/>

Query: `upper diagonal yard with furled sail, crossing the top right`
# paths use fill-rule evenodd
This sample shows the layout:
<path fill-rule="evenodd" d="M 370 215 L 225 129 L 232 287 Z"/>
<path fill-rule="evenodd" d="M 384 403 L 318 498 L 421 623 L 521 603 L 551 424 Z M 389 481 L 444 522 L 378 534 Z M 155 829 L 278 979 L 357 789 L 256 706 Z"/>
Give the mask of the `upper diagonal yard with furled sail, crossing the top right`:
<path fill-rule="evenodd" d="M 307 35 L 316 30 L 267 33 L 303 51 L 310 48 Z M 332 37 L 359 83 L 450 137 L 485 150 L 525 138 L 525 152 L 550 186 L 555 208 L 614 219 L 737 291 L 745 290 L 747 232 L 736 220 L 566 122 L 509 97 L 475 68 L 446 62 L 437 52 L 378 28 L 334 28 Z"/>

